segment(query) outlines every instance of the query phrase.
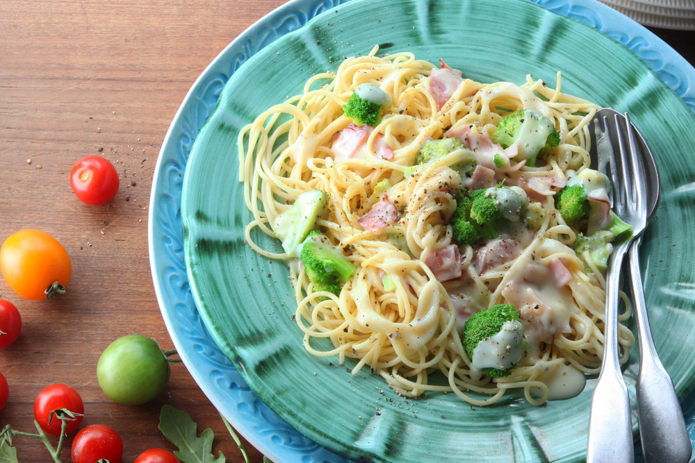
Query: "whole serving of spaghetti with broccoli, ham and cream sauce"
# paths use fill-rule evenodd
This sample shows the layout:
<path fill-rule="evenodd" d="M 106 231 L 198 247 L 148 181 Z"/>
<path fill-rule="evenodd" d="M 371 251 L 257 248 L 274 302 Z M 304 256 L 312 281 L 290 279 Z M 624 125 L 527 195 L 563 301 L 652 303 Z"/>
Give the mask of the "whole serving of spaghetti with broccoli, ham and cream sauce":
<path fill-rule="evenodd" d="M 603 355 L 611 242 L 629 229 L 589 169 L 598 106 L 560 92 L 559 73 L 554 89 L 484 84 L 377 51 L 312 76 L 238 139 L 245 237 L 288 262 L 306 351 L 406 396 L 579 394 Z M 621 323 L 621 363 L 633 343 Z"/>

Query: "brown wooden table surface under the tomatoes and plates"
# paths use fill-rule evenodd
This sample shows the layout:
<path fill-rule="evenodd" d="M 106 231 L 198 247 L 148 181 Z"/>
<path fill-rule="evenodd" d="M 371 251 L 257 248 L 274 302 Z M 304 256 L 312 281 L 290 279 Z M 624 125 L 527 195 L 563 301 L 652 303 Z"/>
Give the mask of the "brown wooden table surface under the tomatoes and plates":
<path fill-rule="evenodd" d="M 164 135 L 183 96 L 208 63 L 283 0 L 0 1 L 0 240 L 22 228 L 56 237 L 73 265 L 68 293 L 26 301 L 0 279 L 22 314 L 22 334 L 0 351 L 10 400 L 4 426 L 33 430 L 33 401 L 63 382 L 85 402 L 83 426 L 103 423 L 124 442 L 124 462 L 147 448 L 174 450 L 159 432 L 167 403 L 199 431 L 215 431 L 215 451 L 243 461 L 215 408 L 186 368 L 147 405 L 112 403 L 97 383 L 101 351 L 138 332 L 172 348 L 152 285 L 147 213 Z M 689 62 L 692 32 L 659 31 Z M 121 178 L 111 203 L 90 207 L 70 189 L 72 164 L 104 155 Z M 31 162 L 30 162 L 31 161 Z M 70 461 L 70 442 L 63 460 Z M 38 440 L 15 438 L 23 462 L 49 461 Z M 246 444 L 252 461 L 259 451 Z"/>

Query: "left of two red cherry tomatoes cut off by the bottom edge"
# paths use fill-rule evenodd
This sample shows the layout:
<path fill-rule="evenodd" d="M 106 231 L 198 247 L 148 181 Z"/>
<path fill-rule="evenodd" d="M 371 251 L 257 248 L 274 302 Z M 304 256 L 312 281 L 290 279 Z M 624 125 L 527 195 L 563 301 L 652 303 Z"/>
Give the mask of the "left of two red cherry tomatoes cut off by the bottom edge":
<path fill-rule="evenodd" d="M 77 433 L 72 441 L 73 463 L 95 463 L 108 460 L 119 463 L 123 456 L 123 442 L 113 429 L 103 424 L 92 424 Z"/>

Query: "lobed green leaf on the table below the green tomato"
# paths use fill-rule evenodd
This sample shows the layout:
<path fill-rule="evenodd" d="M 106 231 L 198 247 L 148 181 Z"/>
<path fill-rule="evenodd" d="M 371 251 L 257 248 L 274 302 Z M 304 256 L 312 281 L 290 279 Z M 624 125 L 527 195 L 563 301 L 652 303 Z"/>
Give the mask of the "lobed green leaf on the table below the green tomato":
<path fill-rule="evenodd" d="M 174 455 L 183 463 L 224 463 L 222 452 L 215 458 L 212 454 L 215 433 L 210 428 L 197 437 L 198 425 L 190 415 L 171 405 L 163 405 L 159 414 L 159 430 L 164 437 L 179 448 Z"/>

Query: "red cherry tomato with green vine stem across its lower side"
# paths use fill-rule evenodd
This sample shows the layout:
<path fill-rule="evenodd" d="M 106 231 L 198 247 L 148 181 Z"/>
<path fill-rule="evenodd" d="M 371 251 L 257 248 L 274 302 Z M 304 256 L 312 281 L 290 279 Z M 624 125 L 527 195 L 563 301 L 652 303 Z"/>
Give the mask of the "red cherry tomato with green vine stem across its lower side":
<path fill-rule="evenodd" d="M 45 432 L 54 436 L 60 435 L 60 419 L 55 414 L 51 418 L 53 410 L 62 410 L 67 408 L 73 413 L 84 414 L 85 407 L 82 403 L 80 394 L 77 394 L 75 389 L 66 385 L 50 385 L 46 389 L 39 392 L 34 402 L 34 419 L 38 421 L 39 426 Z M 49 421 L 51 423 L 49 424 Z M 82 416 L 76 416 L 74 421 L 67 421 L 65 434 L 77 429 L 82 422 Z"/>

